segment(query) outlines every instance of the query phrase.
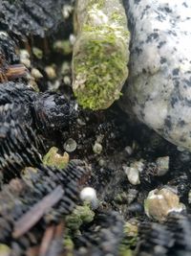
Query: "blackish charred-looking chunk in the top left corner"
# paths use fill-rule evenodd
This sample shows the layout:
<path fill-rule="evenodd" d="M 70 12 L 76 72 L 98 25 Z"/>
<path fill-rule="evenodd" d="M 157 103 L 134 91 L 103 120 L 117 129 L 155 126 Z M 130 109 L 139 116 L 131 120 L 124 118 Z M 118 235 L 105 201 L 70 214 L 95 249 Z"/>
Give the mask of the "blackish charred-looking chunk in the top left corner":
<path fill-rule="evenodd" d="M 3 0 L 0 3 L 0 26 L 2 30 L 23 37 L 45 37 L 63 21 L 62 8 L 70 0 Z"/>

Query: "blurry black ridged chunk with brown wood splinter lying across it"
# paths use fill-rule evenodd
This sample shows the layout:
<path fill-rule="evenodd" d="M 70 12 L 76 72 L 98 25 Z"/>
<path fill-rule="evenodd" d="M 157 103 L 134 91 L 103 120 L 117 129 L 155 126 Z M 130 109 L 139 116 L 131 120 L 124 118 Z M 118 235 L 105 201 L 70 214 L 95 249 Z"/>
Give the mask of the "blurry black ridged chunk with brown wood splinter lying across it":
<path fill-rule="evenodd" d="M 87 164 L 74 160 L 64 170 L 27 168 L 12 179 L 0 192 L 0 243 L 9 244 L 11 237 L 22 244 L 24 236 L 30 244 L 28 232 L 35 225 L 42 236 L 48 224 L 63 220 L 74 210 L 79 183 L 89 173 Z"/>

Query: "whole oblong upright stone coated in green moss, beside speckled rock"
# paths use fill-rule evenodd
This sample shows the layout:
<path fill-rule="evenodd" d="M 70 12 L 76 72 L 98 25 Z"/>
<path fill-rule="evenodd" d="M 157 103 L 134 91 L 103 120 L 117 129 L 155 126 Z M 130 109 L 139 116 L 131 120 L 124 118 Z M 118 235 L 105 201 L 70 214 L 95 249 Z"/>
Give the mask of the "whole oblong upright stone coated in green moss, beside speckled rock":
<path fill-rule="evenodd" d="M 127 18 L 119 0 L 78 0 L 74 27 L 73 89 L 79 105 L 105 109 L 128 77 Z"/>

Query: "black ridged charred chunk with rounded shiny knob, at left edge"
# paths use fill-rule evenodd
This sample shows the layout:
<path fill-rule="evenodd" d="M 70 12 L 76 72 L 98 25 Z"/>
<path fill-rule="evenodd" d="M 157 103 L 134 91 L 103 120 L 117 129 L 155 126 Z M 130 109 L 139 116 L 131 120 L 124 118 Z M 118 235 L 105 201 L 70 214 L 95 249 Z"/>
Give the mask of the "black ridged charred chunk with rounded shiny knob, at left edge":
<path fill-rule="evenodd" d="M 53 136 L 74 119 L 74 106 L 64 96 L 36 93 L 25 84 L 0 84 L 0 169 L 6 177 L 38 166 L 45 153 L 39 132 Z"/>

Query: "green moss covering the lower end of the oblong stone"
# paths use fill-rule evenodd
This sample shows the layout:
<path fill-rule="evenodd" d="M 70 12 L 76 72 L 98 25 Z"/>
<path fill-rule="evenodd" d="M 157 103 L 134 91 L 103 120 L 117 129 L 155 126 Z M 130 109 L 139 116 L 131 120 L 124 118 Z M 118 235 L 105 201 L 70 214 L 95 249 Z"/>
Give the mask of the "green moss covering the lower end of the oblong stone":
<path fill-rule="evenodd" d="M 90 30 L 88 26 L 85 29 L 86 32 Z M 100 32 L 98 28 L 97 31 Z M 128 75 L 127 59 L 123 51 L 117 49 L 117 37 L 110 29 L 107 31 L 105 36 L 97 35 L 97 38 L 82 42 L 81 50 L 86 53 L 83 62 L 80 55 L 74 59 L 74 73 L 81 74 L 82 80 L 85 80 L 84 88 L 80 85 L 74 88 L 74 95 L 80 105 L 95 110 L 107 108 L 119 98 L 121 85 Z"/>

